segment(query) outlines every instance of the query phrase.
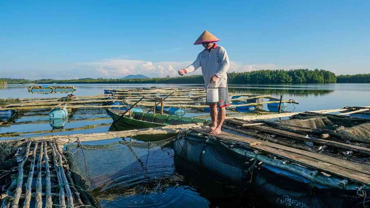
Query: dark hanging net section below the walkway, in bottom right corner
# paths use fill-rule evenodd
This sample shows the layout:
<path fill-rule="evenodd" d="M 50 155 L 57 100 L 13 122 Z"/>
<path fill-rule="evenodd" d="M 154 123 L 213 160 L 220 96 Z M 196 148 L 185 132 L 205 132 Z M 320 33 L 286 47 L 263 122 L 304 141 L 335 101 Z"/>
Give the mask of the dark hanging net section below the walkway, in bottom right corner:
<path fill-rule="evenodd" d="M 253 190 L 264 204 L 279 208 L 347 208 L 362 207 L 364 197 L 356 191 L 319 189 L 298 177 L 275 173 L 258 167 L 253 174 Z"/>

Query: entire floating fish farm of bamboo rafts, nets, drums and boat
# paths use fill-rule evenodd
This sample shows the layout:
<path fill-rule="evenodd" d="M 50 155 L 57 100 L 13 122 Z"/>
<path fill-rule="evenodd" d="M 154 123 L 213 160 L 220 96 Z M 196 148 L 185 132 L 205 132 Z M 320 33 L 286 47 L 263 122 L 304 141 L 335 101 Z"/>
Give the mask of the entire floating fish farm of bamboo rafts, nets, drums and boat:
<path fill-rule="evenodd" d="M 288 112 L 296 100 L 229 96 L 221 134 L 208 131 L 203 88 L 107 89 L 1 105 L 0 128 L 26 123 L 17 117 L 29 112 L 45 120 L 28 122 L 52 128 L 0 133 L 7 138 L 0 142 L 1 207 L 100 207 L 122 194 L 115 188 L 131 184 L 125 193 L 136 194 L 137 178 L 166 184 L 185 163 L 267 207 L 370 206 L 370 106 Z M 78 111 L 96 109 L 109 117 L 99 111 L 83 121 L 109 120 L 99 124 L 108 131 L 67 132 L 90 128 L 68 125 Z"/>

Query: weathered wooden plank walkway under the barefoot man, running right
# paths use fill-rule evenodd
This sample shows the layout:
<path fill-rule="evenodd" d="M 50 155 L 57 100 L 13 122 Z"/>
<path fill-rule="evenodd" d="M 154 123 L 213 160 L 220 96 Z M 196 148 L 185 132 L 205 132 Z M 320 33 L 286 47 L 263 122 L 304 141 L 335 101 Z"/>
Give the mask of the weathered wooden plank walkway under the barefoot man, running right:
<path fill-rule="evenodd" d="M 221 134 L 209 134 L 205 129 L 191 128 L 199 133 L 218 138 L 219 140 L 234 141 L 237 144 L 248 145 L 250 148 L 272 154 L 276 157 L 289 160 L 305 167 L 314 168 L 329 174 L 368 184 L 370 182 L 370 167 L 337 158 L 298 150 L 284 145 L 274 144 L 268 141 L 260 141 L 254 138 L 242 137 L 236 134 L 222 132 Z"/>

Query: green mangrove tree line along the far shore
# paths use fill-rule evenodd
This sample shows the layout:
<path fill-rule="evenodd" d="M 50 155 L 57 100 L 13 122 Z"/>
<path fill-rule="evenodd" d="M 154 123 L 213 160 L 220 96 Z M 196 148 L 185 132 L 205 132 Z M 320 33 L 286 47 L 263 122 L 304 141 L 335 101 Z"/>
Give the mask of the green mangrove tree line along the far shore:
<path fill-rule="evenodd" d="M 1 78 L 8 84 L 78 84 L 78 83 L 124 83 L 124 84 L 203 84 L 203 77 L 200 75 L 187 75 L 183 77 L 161 77 L 147 79 L 122 79 L 122 78 L 81 78 L 74 80 L 54 80 L 54 79 L 12 79 Z M 229 84 L 277 84 L 277 83 L 370 83 L 370 74 L 340 75 L 326 70 L 259 70 L 242 73 L 228 73 Z"/>

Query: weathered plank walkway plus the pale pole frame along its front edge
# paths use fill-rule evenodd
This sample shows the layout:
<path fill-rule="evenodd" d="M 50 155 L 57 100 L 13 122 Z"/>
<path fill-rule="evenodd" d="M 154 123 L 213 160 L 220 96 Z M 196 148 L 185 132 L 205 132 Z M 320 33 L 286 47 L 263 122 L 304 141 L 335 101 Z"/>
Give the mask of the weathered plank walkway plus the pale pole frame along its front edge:
<path fill-rule="evenodd" d="M 218 140 L 246 145 L 258 151 L 247 152 L 246 156 L 248 157 L 256 158 L 257 160 L 267 164 L 295 172 L 310 180 L 320 182 L 321 184 L 329 185 L 334 188 L 356 189 L 360 187 L 360 184 L 368 184 L 370 182 L 369 165 L 357 164 L 327 155 L 299 150 L 285 145 L 275 144 L 270 141 L 261 141 L 255 138 L 243 137 L 228 132 L 222 132 L 221 134 L 215 135 L 209 134 L 209 132 L 202 128 L 191 128 L 191 130 L 209 137 L 217 138 Z M 281 162 L 281 160 L 276 162 L 271 160 L 271 157 L 266 157 L 266 155 L 273 155 L 287 162 L 285 164 L 284 162 Z M 304 168 L 300 168 L 299 166 L 319 170 L 319 172 L 310 170 L 307 172 Z M 330 178 L 319 175 L 321 171 L 336 177 Z M 343 181 L 340 178 L 344 178 L 346 181 Z"/>

